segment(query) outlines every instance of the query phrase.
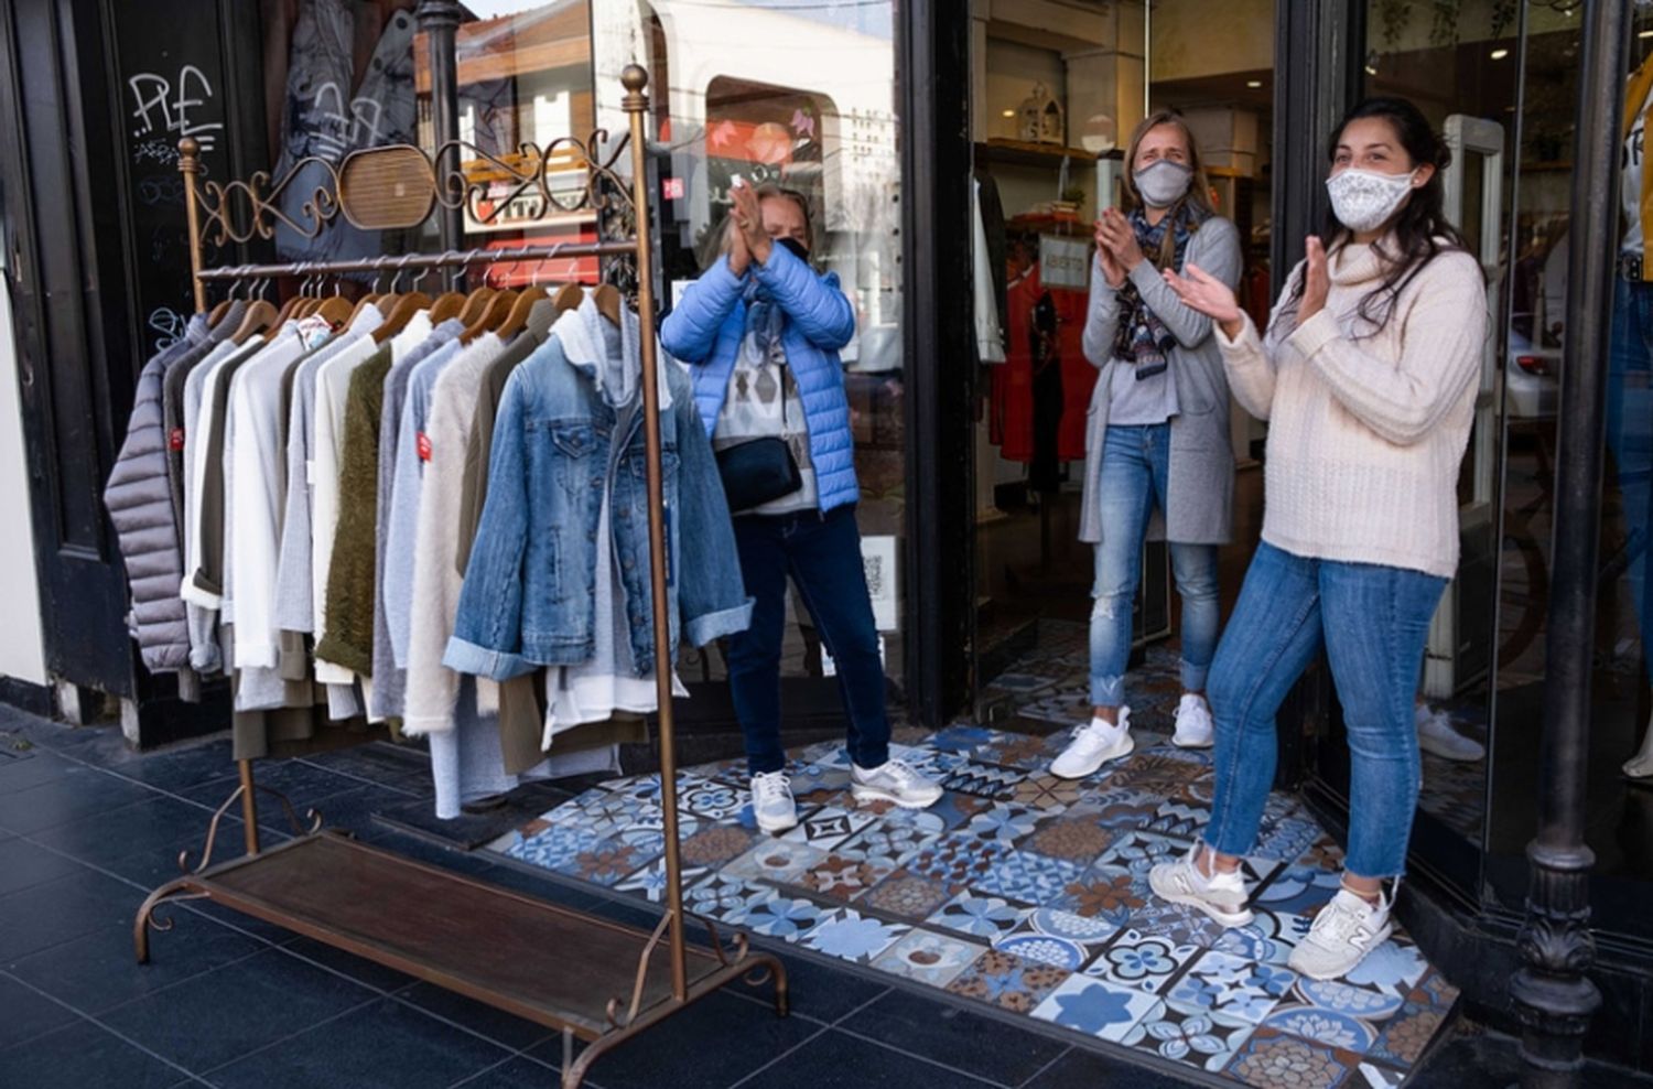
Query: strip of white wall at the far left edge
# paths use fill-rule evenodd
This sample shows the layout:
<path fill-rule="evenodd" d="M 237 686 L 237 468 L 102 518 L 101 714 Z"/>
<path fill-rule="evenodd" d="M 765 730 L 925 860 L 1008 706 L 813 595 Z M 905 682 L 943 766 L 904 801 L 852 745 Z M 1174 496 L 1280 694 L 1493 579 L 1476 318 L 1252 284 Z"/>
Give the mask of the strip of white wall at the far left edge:
<path fill-rule="evenodd" d="M 35 575 L 35 527 L 28 506 L 28 461 L 23 453 L 23 405 L 18 398 L 12 296 L 0 278 L 0 676 L 46 682 Z"/>

